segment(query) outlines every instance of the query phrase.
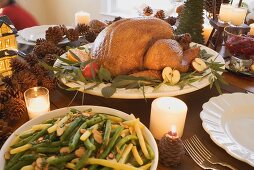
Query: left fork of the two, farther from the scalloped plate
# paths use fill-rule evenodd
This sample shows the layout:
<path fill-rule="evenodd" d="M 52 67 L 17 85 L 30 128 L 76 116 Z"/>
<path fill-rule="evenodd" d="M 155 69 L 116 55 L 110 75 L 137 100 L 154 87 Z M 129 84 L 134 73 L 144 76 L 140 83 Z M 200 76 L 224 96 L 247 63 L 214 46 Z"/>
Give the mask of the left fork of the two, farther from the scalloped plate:
<path fill-rule="evenodd" d="M 183 141 L 183 146 L 191 158 L 203 169 L 218 170 L 213 164 L 204 159 L 192 146 L 192 144 L 186 139 Z"/>

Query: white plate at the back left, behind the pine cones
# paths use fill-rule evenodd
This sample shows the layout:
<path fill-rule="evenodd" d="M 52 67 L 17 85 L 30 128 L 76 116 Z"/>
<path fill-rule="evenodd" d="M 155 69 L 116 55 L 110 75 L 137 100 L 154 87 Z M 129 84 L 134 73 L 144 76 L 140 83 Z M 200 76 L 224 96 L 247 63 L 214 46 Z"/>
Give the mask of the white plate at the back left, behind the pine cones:
<path fill-rule="evenodd" d="M 34 27 L 29 27 L 29 28 L 25 28 L 23 30 L 20 30 L 18 32 L 18 34 L 26 41 L 28 42 L 36 42 L 37 39 L 39 38 L 43 38 L 45 39 L 45 35 L 46 35 L 46 30 L 49 27 L 53 27 L 56 25 L 40 25 L 40 26 L 34 26 Z M 67 28 L 71 28 L 71 27 L 67 27 Z M 64 38 L 60 44 L 66 44 L 68 43 L 69 40 L 67 38 Z"/>

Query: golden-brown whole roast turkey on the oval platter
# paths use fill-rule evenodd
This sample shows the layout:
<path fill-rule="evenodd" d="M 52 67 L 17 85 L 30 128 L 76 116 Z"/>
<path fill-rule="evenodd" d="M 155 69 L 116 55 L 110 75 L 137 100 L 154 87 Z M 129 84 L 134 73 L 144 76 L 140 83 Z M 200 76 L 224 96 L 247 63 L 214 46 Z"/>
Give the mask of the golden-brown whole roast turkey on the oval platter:
<path fill-rule="evenodd" d="M 98 35 L 91 54 L 112 76 L 135 73 L 158 79 L 158 71 L 167 66 L 187 72 L 198 56 L 199 49 L 183 51 L 173 39 L 172 27 L 160 19 L 122 19 Z"/>

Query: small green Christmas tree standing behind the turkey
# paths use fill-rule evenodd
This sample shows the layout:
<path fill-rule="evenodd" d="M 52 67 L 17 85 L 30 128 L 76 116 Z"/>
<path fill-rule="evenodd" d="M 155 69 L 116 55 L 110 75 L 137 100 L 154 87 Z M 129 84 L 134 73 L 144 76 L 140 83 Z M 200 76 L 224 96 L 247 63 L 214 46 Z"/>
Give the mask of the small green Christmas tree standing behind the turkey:
<path fill-rule="evenodd" d="M 187 0 L 176 33 L 189 33 L 193 42 L 203 44 L 203 8 L 204 0 Z"/>

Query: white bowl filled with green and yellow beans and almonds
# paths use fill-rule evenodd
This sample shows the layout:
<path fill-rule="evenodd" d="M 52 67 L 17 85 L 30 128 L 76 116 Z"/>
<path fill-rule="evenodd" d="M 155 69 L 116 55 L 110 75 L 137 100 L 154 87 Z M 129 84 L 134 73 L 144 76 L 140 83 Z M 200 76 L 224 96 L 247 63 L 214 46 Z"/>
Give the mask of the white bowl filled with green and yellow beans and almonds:
<path fill-rule="evenodd" d="M 100 113 L 100 114 L 96 114 L 96 113 Z M 32 119 L 30 120 L 29 122 L 25 123 L 23 126 L 21 126 L 18 130 L 16 130 L 12 136 L 5 142 L 4 146 L 2 147 L 1 151 L 0 151 L 0 164 L 1 165 L 6 165 L 6 160 L 4 158 L 4 154 L 6 152 L 8 152 L 10 150 L 10 145 L 12 145 L 14 148 L 19 148 L 20 146 L 18 146 L 20 144 L 20 141 L 18 141 L 18 143 L 15 144 L 15 141 L 14 139 L 19 136 L 19 137 L 24 137 L 24 135 L 28 135 L 27 132 L 31 132 L 31 131 L 38 131 L 38 132 L 42 132 L 43 131 L 43 127 L 47 127 L 46 128 L 46 133 L 49 133 L 49 132 L 55 132 L 57 129 L 59 128 L 62 128 L 62 126 L 56 126 L 56 128 L 54 128 L 54 125 L 58 124 L 56 122 L 56 119 L 60 118 L 61 120 L 59 121 L 62 121 L 62 122 L 66 122 L 68 121 L 68 123 L 70 124 L 73 124 L 75 123 L 75 125 L 77 125 L 76 123 L 78 121 L 81 120 L 81 118 L 85 119 L 87 121 L 87 123 L 89 124 L 86 124 L 83 126 L 82 124 L 84 123 L 85 120 L 81 120 L 81 122 L 79 122 L 79 124 L 76 126 L 74 126 L 74 129 L 76 127 L 76 133 L 74 135 L 78 136 L 78 140 L 84 140 L 85 139 L 85 135 L 84 134 L 90 134 L 87 136 L 87 138 L 85 139 L 85 143 L 87 143 L 87 140 L 89 139 L 89 142 L 90 145 L 84 145 L 83 147 L 85 148 L 88 148 L 88 146 L 91 147 L 91 149 L 89 148 L 88 150 L 90 150 L 90 156 L 88 159 L 82 159 L 82 160 L 87 160 L 87 163 L 88 164 L 100 164 L 100 165 L 103 165 L 103 166 L 109 166 L 111 168 L 117 168 L 121 165 L 121 168 L 123 169 L 139 169 L 139 167 L 141 168 L 146 168 L 146 169 L 150 169 L 150 170 L 156 170 L 157 168 L 157 165 L 158 165 L 158 148 L 157 148 L 157 144 L 152 136 L 152 134 L 149 132 L 149 130 L 139 122 L 138 119 L 135 119 L 133 117 L 133 115 L 128 115 L 124 112 L 121 112 L 119 110 L 115 110 L 115 109 L 111 109 L 111 108 L 107 108 L 107 107 L 101 107 L 101 106 L 76 106 L 76 107 L 72 107 L 72 108 L 62 108 L 62 109 L 58 109 L 58 110 L 54 110 L 54 111 L 51 111 L 43 116 L 40 116 L 40 117 L 37 117 L 35 119 Z M 48 124 L 42 124 L 42 122 L 46 121 L 46 120 L 54 120 L 53 122 L 48 122 Z M 106 121 L 104 121 L 106 120 Z M 109 122 L 109 123 L 108 123 Z M 50 126 L 49 127 L 49 123 L 51 123 L 51 125 L 53 126 Z M 67 123 L 67 122 L 66 122 Z M 127 125 L 124 125 L 124 124 L 128 124 Z M 60 124 L 59 124 L 60 125 Z M 62 125 L 62 124 L 61 124 Z M 65 124 L 64 126 L 67 126 L 68 124 Z M 102 143 L 99 142 L 98 138 L 96 137 L 96 135 L 94 134 L 97 134 L 99 133 L 99 136 L 102 135 L 101 133 L 104 133 L 105 132 L 105 129 L 103 128 L 104 126 L 102 125 L 107 125 L 107 127 L 110 127 L 112 126 L 112 128 L 107 128 L 107 129 L 110 129 L 110 131 L 113 131 L 113 128 L 116 128 L 116 133 L 115 135 L 111 135 L 110 136 L 110 141 L 108 142 L 108 144 L 104 144 L 104 140 L 106 138 L 102 137 L 103 141 Z M 114 125 L 118 125 L 118 127 L 114 127 Z M 123 126 L 124 125 L 124 126 Z M 129 153 L 129 154 L 125 154 L 127 153 L 127 151 L 120 157 L 120 160 L 119 160 L 119 156 L 115 157 L 115 159 L 118 159 L 119 162 L 116 162 L 114 160 L 112 160 L 112 155 L 115 154 L 115 153 L 118 153 L 119 150 L 117 149 L 117 146 L 120 146 L 122 145 L 123 147 L 121 147 L 121 150 L 123 150 L 124 148 L 130 148 L 128 146 L 132 146 L 132 140 L 126 140 L 127 138 L 125 138 L 125 136 L 123 134 L 126 134 L 126 136 L 129 136 L 130 135 L 130 131 L 128 131 L 129 127 L 131 129 L 131 127 L 133 126 L 143 126 L 142 129 L 139 129 L 141 130 L 141 136 L 143 137 L 143 140 L 145 140 L 146 142 L 144 143 L 145 146 L 149 146 L 149 155 L 151 154 L 151 158 L 149 158 L 149 162 L 145 162 L 143 161 L 143 164 L 140 165 L 140 164 L 137 164 L 137 162 L 135 161 L 136 158 L 134 158 L 132 155 L 132 153 Z M 87 129 L 86 132 L 84 133 L 80 133 L 79 131 L 79 127 L 82 126 L 83 130 Z M 71 128 L 72 126 L 68 126 L 68 129 Z M 32 129 L 31 129 L 32 128 Z M 73 127 L 72 127 L 73 129 Z M 96 130 L 97 129 L 97 130 Z M 124 130 L 124 129 L 127 129 L 127 130 Z M 27 131 L 29 130 L 29 131 Z M 123 131 L 124 130 L 124 131 Z M 136 131 L 136 130 L 135 130 Z M 45 129 L 44 129 L 44 132 L 45 132 Z M 65 138 L 66 141 L 69 141 L 71 140 L 71 138 L 68 138 L 69 135 L 71 135 L 72 131 L 68 130 L 68 134 L 67 133 L 67 129 L 60 135 L 60 137 L 57 137 L 55 140 L 58 141 L 57 143 L 59 143 L 60 140 L 63 140 Z M 140 131 L 139 131 L 140 132 Z M 134 136 L 134 135 L 130 135 L 130 136 L 134 136 L 132 139 L 139 142 L 139 138 L 141 136 L 139 136 L 139 132 L 137 133 L 138 136 Z M 52 133 L 49 133 L 49 134 L 52 134 Z M 58 132 L 57 132 L 58 133 Z M 54 134 L 54 133 L 53 133 Z M 31 135 L 31 134 L 30 134 Z M 42 134 L 43 136 L 45 134 Z M 80 139 L 81 137 L 81 139 Z M 124 139 L 124 141 L 116 141 L 117 137 L 120 137 L 121 139 Z M 38 139 L 38 135 L 36 138 L 34 138 L 35 140 Z M 94 141 L 95 140 L 95 141 Z M 12 142 L 13 141 L 13 142 Z M 37 142 L 33 142 L 31 145 L 33 146 L 36 146 L 36 150 L 35 152 L 43 152 L 41 150 L 41 148 L 43 148 L 42 146 L 44 145 L 44 148 L 45 148 L 45 144 L 46 144 L 46 147 L 50 146 L 48 143 L 47 143 L 47 140 L 39 140 L 40 142 L 37 143 Z M 96 142 L 98 141 L 99 143 L 96 143 L 96 146 L 94 146 L 93 142 Z M 117 142 L 117 143 L 116 143 Z M 120 142 L 120 143 L 119 143 Z M 54 144 L 57 144 L 54 142 Z M 113 145 L 112 145 L 113 143 Z M 114 144 L 116 143 L 116 144 Z M 69 142 L 68 142 L 69 144 Z M 67 144 L 67 146 L 68 146 Z M 29 144 L 27 144 L 26 146 L 31 146 Z M 143 144 L 141 144 L 143 145 Z M 52 166 L 57 166 L 57 167 L 61 167 L 61 166 L 65 166 L 65 168 L 68 168 L 68 169 L 71 169 L 71 167 L 78 167 L 79 165 L 81 165 L 81 167 L 83 167 L 84 165 L 83 164 L 76 164 L 76 162 L 71 162 L 72 159 L 76 158 L 78 154 L 78 152 L 75 152 L 76 150 L 82 150 L 83 148 L 80 148 L 78 147 L 75 143 L 73 143 L 71 146 L 73 148 L 74 146 L 74 150 L 71 150 L 70 153 L 66 153 L 64 151 L 64 147 L 63 147 L 63 143 L 61 142 L 61 150 L 55 150 L 52 152 L 53 153 L 48 153 L 48 149 L 44 150 L 44 156 L 51 156 L 52 154 L 55 154 L 57 152 L 56 157 L 55 158 L 61 158 L 61 156 L 65 155 L 67 156 L 69 159 L 67 160 L 62 160 L 62 162 L 64 162 L 64 164 L 58 164 L 57 163 L 57 160 L 55 159 L 47 159 L 47 161 L 45 163 L 50 163 L 50 167 Z M 104 148 L 105 146 L 108 146 L 106 150 L 104 150 L 103 152 L 100 152 L 99 150 Z M 126 147 L 127 146 L 127 147 Z M 97 150 L 94 150 L 94 147 L 98 148 L 98 152 Z M 40 148 L 40 149 L 38 149 Z M 140 150 L 140 147 L 139 146 L 136 146 L 136 149 L 135 147 L 133 147 L 134 149 L 131 149 L 129 150 L 129 152 L 133 152 L 132 150 L 135 150 L 137 149 L 140 154 L 140 152 L 142 153 L 143 151 Z M 26 149 L 29 149 L 29 147 L 27 147 Z M 125 149 L 125 150 L 126 150 Z M 120 151 L 121 151 L 120 150 Z M 112 152 L 111 152 L 112 151 Z M 16 155 L 16 153 L 19 152 L 18 149 L 12 149 L 11 150 L 11 155 Z M 60 154 L 61 152 L 61 154 Z M 136 153 L 136 152 L 135 152 Z M 153 153 L 153 154 L 152 154 Z M 50 155 L 49 155 L 50 154 Z M 19 154 L 20 155 L 20 154 Z M 19 157 L 19 155 L 17 157 Z M 117 154 L 119 155 L 119 154 Z M 131 159 L 129 160 L 125 160 L 126 157 L 125 156 L 130 156 Z M 84 155 L 83 155 L 84 156 Z M 93 158 L 91 158 L 93 157 Z M 39 157 L 40 159 L 44 160 L 44 157 Z M 38 157 L 32 157 L 32 162 L 35 161 L 36 159 L 39 159 Z M 82 158 L 82 157 L 81 157 Z M 143 157 L 142 157 L 143 159 Z M 31 161 L 30 160 L 30 161 Z M 55 160 L 52 162 L 52 160 Z M 77 160 L 77 159 L 76 159 Z M 95 161 L 95 162 L 94 162 Z M 128 162 L 127 162 L 128 161 Z M 131 165 L 127 163 L 129 163 L 129 161 L 131 161 Z M 18 165 L 14 165 L 13 164 L 13 161 L 8 161 L 7 163 L 7 167 L 19 167 L 19 166 L 25 166 L 27 165 L 27 162 L 26 164 L 24 165 L 21 165 L 20 164 L 21 161 L 16 161 L 15 163 L 18 164 Z M 39 160 L 38 160 L 39 162 Z M 38 163 L 37 164 L 33 164 L 33 166 L 38 166 Z M 80 162 L 80 161 L 78 161 Z M 31 163 L 30 163 L 31 164 Z M 30 165 L 29 164 L 29 165 Z M 135 167 L 134 167 L 135 166 Z M 96 165 L 91 165 L 90 168 L 93 169 L 93 168 L 96 169 Z M 1 170 L 4 169 L 4 166 L 1 166 L 0 167 Z M 8 168 L 7 168 L 8 169 Z M 60 169 L 60 168 L 58 168 Z M 78 168 L 78 169 L 81 169 L 81 168 Z M 118 168 L 120 169 L 120 168 Z"/>

